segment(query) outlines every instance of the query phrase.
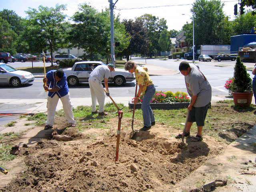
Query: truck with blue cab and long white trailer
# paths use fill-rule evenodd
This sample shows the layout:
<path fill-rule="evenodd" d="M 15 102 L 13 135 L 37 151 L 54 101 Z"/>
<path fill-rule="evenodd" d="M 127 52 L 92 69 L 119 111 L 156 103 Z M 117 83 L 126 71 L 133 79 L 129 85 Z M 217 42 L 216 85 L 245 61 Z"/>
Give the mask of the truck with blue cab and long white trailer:
<path fill-rule="evenodd" d="M 194 46 L 194 48 L 194 58 L 198 58 L 201 54 L 211 58 L 218 56 L 218 54 L 230 54 L 230 45 L 200 45 Z M 190 48 L 190 52 L 184 54 L 184 58 L 193 59 L 193 46 Z"/>

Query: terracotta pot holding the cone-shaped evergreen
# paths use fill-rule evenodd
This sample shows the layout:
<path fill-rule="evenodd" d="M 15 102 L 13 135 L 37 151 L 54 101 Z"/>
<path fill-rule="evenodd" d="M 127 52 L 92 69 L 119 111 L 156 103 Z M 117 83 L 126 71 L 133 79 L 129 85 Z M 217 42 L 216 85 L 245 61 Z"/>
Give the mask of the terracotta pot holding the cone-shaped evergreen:
<path fill-rule="evenodd" d="M 250 106 L 253 92 L 231 92 L 236 106 Z"/>

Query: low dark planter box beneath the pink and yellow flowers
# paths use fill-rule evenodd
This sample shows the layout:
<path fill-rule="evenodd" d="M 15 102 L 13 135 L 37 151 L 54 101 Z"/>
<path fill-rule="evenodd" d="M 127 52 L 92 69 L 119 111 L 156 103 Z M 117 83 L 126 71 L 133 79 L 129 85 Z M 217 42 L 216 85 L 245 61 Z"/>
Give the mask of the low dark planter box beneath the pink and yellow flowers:
<path fill-rule="evenodd" d="M 133 109 L 134 103 L 132 101 L 129 101 L 128 105 L 131 109 Z M 189 105 L 189 102 L 174 103 L 174 104 L 170 104 L 170 103 L 150 103 L 150 107 L 152 109 L 182 109 L 182 108 L 187 108 L 188 105 Z M 136 103 L 135 108 L 140 109 L 141 108 L 141 103 Z"/>

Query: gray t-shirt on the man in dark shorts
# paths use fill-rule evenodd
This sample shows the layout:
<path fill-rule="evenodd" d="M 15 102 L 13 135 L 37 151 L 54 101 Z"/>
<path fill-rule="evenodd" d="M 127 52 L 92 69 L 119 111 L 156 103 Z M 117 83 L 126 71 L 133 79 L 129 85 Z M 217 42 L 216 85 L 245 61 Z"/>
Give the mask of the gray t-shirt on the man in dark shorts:
<path fill-rule="evenodd" d="M 197 95 L 194 107 L 206 106 L 212 100 L 212 87 L 194 64 L 189 65 L 191 71 L 184 76 L 188 94 L 190 97 Z"/>

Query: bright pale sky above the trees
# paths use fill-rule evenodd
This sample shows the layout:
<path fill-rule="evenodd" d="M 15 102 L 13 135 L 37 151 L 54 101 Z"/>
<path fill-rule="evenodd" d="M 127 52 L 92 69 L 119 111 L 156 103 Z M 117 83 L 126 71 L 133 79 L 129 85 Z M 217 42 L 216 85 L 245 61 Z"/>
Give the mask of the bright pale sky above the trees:
<path fill-rule="evenodd" d="M 230 17 L 229 20 L 234 20 L 234 4 L 238 3 L 238 0 L 221 1 L 225 4 L 223 8 L 224 14 Z M 39 5 L 55 7 L 56 4 L 66 4 L 67 11 L 64 13 L 71 17 L 78 10 L 78 4 L 85 2 L 99 11 L 109 7 L 108 0 L 0 0 L 0 10 L 14 10 L 16 14 L 25 18 L 27 16 L 25 11 L 29 7 L 38 9 Z M 116 2 L 116 0 L 113 0 L 113 2 Z M 120 14 L 121 21 L 123 19 L 134 19 L 146 13 L 152 14 L 159 19 L 164 18 L 167 21 L 168 30 L 175 29 L 179 31 L 186 22 L 191 22 L 190 16 L 192 14 L 190 9 L 193 2 L 194 0 L 118 0 L 115 5 L 114 14 Z M 122 10 L 153 6 L 165 7 Z"/>

